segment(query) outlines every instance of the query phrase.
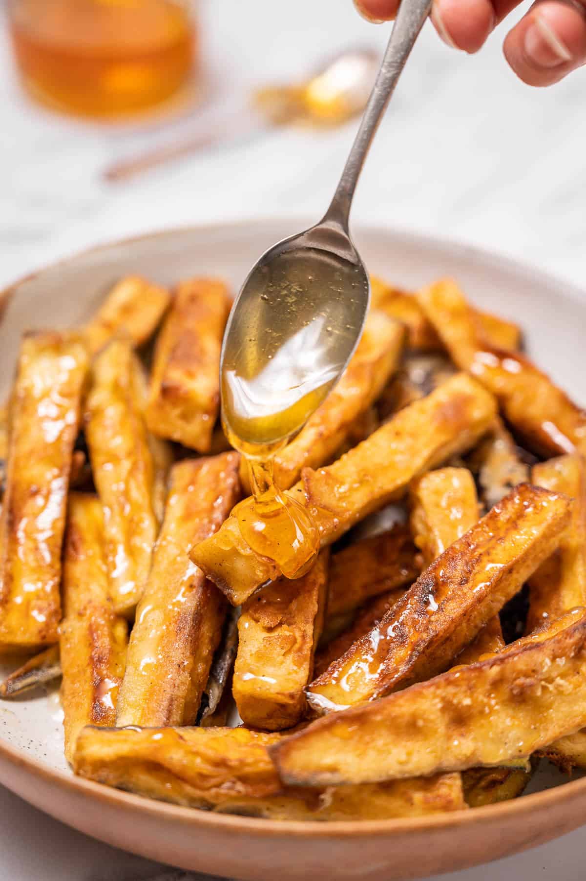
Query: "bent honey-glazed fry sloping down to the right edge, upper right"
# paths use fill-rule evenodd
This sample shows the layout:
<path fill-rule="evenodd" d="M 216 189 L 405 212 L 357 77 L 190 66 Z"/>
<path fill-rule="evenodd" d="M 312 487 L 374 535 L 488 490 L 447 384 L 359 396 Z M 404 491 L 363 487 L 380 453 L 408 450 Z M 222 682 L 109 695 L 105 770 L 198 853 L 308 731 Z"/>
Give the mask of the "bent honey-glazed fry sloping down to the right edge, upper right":
<path fill-rule="evenodd" d="M 493 392 L 531 449 L 546 456 L 586 452 L 586 411 L 529 359 L 479 339 L 471 308 L 454 281 L 431 285 L 419 292 L 418 300 L 456 365 Z"/>

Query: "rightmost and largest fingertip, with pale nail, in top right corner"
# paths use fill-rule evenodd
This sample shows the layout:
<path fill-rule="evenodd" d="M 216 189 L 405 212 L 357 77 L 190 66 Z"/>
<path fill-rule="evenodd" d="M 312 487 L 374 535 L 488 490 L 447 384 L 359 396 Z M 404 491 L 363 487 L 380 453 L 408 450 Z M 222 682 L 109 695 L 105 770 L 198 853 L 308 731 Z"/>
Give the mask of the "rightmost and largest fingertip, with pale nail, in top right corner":
<path fill-rule="evenodd" d="M 508 33 L 503 51 L 527 85 L 553 85 L 586 62 L 586 15 L 542 0 Z"/>

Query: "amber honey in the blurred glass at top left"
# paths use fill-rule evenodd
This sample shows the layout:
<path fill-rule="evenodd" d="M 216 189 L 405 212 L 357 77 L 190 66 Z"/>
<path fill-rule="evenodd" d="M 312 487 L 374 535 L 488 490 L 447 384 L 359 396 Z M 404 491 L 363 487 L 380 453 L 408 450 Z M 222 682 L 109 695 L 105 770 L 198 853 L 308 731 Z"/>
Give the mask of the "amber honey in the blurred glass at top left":
<path fill-rule="evenodd" d="M 179 0 L 11 0 L 24 84 L 42 103 L 93 117 L 156 107 L 184 85 L 196 33 Z"/>

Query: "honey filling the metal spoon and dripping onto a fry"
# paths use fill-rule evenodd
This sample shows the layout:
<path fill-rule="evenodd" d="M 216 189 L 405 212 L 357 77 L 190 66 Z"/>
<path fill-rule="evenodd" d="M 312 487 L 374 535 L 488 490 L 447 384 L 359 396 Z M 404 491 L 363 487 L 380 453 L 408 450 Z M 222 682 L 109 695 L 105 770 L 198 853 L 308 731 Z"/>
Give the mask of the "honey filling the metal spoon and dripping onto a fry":
<path fill-rule="evenodd" d="M 287 578 L 308 571 L 320 537 L 307 507 L 275 485 L 273 459 L 337 381 L 360 320 L 355 267 L 307 250 L 248 279 L 257 296 L 230 329 L 235 344 L 225 348 L 221 375 L 226 435 L 246 456 L 253 489 L 233 515 L 248 545 Z M 355 322 L 348 301 L 356 302 Z"/>

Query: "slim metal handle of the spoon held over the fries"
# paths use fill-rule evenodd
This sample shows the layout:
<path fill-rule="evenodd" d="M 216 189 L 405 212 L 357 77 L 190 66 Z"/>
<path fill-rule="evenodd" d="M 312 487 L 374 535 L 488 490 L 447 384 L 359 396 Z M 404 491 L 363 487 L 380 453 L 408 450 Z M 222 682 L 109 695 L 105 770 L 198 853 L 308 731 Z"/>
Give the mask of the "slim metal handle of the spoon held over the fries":
<path fill-rule="evenodd" d="M 354 190 L 367 158 L 367 152 L 373 142 L 390 96 L 395 91 L 398 78 L 401 76 L 413 44 L 429 15 L 431 5 L 432 0 L 402 0 L 399 6 L 397 19 L 390 34 L 389 45 L 382 57 L 381 67 L 362 116 L 360 128 L 352 144 L 350 155 L 346 159 L 344 171 L 331 200 L 330 208 L 323 218 L 326 221 L 337 222 L 346 233 L 348 232 L 348 215 Z"/>

